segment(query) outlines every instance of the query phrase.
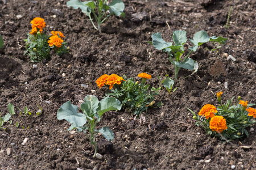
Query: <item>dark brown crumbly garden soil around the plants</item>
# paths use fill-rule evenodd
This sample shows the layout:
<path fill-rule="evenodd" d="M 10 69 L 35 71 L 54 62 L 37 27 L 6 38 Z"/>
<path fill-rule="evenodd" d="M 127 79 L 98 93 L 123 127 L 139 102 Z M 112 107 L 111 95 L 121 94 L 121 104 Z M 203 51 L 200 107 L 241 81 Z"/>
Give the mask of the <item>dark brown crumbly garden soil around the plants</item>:
<path fill-rule="evenodd" d="M 255 1 L 124 1 L 126 18 L 110 16 L 97 32 L 89 18 L 68 8 L 67 0 L 0 1 L 0 31 L 4 46 L 0 49 L 0 111 L 8 113 L 12 103 L 16 114 L 12 124 L 0 130 L 1 169 L 256 169 L 256 126 L 249 138 L 233 145 L 211 137 L 195 125 L 192 113 L 205 104 L 217 106 L 222 100 L 242 97 L 256 103 Z M 230 7 L 229 28 L 225 28 Z M 31 63 L 24 55 L 31 20 L 45 19 L 44 32 L 64 33 L 71 48 L 64 56 Z M 191 58 L 199 63 L 197 73 L 181 69 L 175 80 L 175 92 L 162 88 L 155 101 L 162 107 L 148 108 L 135 117 L 124 110 L 104 114 L 98 128 L 109 126 L 115 134 L 112 142 L 97 135 L 98 152 L 83 133 L 68 131 L 65 120 L 57 120 L 62 104 L 80 106 L 86 95 L 101 100 L 107 87 L 99 89 L 96 79 L 102 74 L 125 74 L 140 80 L 139 73 L 152 75 L 147 83 L 159 87 L 165 75 L 174 77 L 168 54 L 148 44 L 151 35 L 160 32 L 172 41 L 172 31 L 184 30 L 188 39 L 197 31 L 228 38 L 216 49 L 208 42 Z M 185 48 L 191 46 L 187 41 Z M 230 58 L 229 55 L 233 57 Z M 19 114 L 27 106 L 31 116 Z M 43 112 L 36 116 L 42 107 Z M 34 116 L 34 117 L 32 117 Z M 16 122 L 19 126 L 15 128 Z M 23 128 L 24 129 L 23 129 Z M 27 138 L 27 142 L 24 139 Z"/>

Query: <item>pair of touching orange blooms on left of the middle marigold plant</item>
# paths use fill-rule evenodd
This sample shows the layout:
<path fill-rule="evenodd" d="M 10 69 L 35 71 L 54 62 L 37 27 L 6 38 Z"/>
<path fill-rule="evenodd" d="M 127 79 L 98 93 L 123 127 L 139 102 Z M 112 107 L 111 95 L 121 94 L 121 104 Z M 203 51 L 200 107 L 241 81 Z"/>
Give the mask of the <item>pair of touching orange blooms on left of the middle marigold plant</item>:
<path fill-rule="evenodd" d="M 125 81 L 125 80 L 121 76 L 118 76 L 117 74 L 112 74 L 112 75 L 104 74 L 96 80 L 96 83 L 99 88 L 101 88 L 102 86 L 104 86 L 104 84 L 106 84 L 106 85 L 109 85 L 109 89 L 112 89 L 114 87 L 114 84 L 121 84 L 122 81 Z"/>

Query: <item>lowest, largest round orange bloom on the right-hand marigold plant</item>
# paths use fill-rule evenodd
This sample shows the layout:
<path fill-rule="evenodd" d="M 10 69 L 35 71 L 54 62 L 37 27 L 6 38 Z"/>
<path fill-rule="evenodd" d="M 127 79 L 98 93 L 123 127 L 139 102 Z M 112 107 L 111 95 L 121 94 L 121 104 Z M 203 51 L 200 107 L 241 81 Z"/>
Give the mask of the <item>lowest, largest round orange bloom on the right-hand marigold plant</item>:
<path fill-rule="evenodd" d="M 212 131 L 219 131 L 220 133 L 223 130 L 228 129 L 226 126 L 226 120 L 222 116 L 214 116 L 213 118 L 210 119 L 210 129 Z"/>

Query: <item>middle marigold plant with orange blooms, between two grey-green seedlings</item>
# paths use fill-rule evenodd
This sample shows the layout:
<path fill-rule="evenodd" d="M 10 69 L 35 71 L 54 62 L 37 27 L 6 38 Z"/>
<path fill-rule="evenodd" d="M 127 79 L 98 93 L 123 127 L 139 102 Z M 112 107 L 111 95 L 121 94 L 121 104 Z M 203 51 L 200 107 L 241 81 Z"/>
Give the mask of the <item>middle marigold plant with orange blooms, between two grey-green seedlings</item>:
<path fill-rule="evenodd" d="M 140 74 L 139 74 L 140 75 Z M 142 79 L 150 79 L 151 75 L 144 75 Z M 145 76 L 147 78 L 145 78 Z M 146 81 L 145 81 L 146 82 Z M 103 87 L 104 84 L 109 86 L 111 90 L 106 96 L 116 97 L 122 102 L 123 108 L 127 112 L 133 112 L 133 114 L 141 114 L 143 111 L 147 111 L 147 108 L 155 104 L 155 96 L 159 94 L 160 87 L 154 88 L 149 84 L 135 82 L 134 78 L 127 79 L 125 75 L 123 77 L 117 74 L 107 75 L 104 74 L 96 80 L 99 88 Z M 161 103 L 156 103 L 160 106 Z"/>

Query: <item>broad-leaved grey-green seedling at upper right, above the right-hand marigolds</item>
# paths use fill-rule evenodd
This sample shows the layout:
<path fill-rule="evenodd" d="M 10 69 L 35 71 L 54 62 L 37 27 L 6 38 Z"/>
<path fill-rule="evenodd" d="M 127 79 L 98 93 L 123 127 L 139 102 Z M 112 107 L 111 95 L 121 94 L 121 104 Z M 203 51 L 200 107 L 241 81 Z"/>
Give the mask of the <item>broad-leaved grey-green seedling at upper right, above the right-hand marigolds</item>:
<path fill-rule="evenodd" d="M 172 42 L 164 41 L 159 32 L 153 33 L 151 37 L 152 41 L 148 41 L 148 43 L 154 45 L 156 49 L 163 50 L 164 52 L 167 52 L 169 54 L 170 57 L 168 59 L 174 65 L 175 69 L 175 79 L 177 79 L 177 75 L 181 68 L 195 70 L 193 73 L 196 73 L 196 71 L 199 69 L 198 63 L 188 57 L 192 52 L 195 52 L 200 45 L 208 41 L 220 42 L 221 44 L 224 44 L 226 40 L 226 38 L 222 37 L 209 37 L 207 32 L 199 31 L 195 33 L 195 35 L 193 36 L 193 40 L 189 39 L 194 46 L 191 46 L 189 48 L 190 51 L 188 52 L 187 56 L 182 58 L 181 56 L 185 52 L 184 44 L 185 42 L 187 42 L 185 31 L 177 30 L 173 32 L 172 39 L 174 39 L 174 45 L 172 44 Z"/>

